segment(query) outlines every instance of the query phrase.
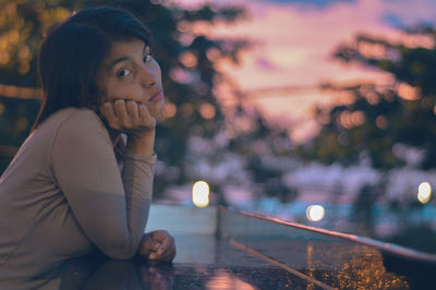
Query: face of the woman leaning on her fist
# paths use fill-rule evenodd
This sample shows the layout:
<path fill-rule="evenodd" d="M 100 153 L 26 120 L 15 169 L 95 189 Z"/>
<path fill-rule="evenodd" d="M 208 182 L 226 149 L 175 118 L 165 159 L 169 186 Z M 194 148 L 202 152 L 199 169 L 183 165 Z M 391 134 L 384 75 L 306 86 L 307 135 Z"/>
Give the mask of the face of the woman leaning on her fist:
<path fill-rule="evenodd" d="M 132 99 L 161 119 L 165 98 L 159 64 L 140 39 L 114 41 L 96 74 L 101 101 Z"/>

